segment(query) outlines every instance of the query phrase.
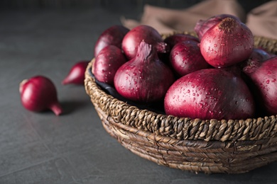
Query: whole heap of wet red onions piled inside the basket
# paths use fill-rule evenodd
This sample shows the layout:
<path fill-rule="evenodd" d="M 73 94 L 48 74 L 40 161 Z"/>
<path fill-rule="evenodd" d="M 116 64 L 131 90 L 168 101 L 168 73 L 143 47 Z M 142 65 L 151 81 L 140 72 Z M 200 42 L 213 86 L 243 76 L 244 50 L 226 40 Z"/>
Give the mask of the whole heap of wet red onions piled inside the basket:
<path fill-rule="evenodd" d="M 277 57 L 254 48 L 244 23 L 217 15 L 198 21 L 195 33 L 163 39 L 148 25 L 114 25 L 97 40 L 92 74 L 137 105 L 162 104 L 167 115 L 234 120 L 277 114 Z"/>

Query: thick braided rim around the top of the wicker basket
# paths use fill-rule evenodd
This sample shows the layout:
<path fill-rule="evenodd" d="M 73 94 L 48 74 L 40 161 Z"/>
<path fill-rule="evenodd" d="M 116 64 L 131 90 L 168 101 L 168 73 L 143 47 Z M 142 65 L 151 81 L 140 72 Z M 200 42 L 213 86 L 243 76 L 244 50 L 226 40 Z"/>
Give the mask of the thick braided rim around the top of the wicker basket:
<path fill-rule="evenodd" d="M 190 34 L 193 35 L 193 33 Z M 271 47 L 277 45 L 277 40 L 262 37 L 255 38 L 262 44 L 270 42 Z M 260 45 L 258 43 L 255 46 Z M 228 140 L 268 139 L 277 136 L 277 115 L 247 118 L 245 120 L 201 120 L 199 118 L 192 119 L 190 117 L 158 114 L 151 110 L 139 109 L 134 105 L 129 105 L 114 98 L 97 86 L 95 80 L 89 74 L 93 62 L 94 59 L 87 66 L 85 89 L 93 103 L 97 103 L 99 108 L 117 123 L 174 139 L 219 140 L 225 142 Z M 139 120 L 136 120 L 136 118 Z"/>

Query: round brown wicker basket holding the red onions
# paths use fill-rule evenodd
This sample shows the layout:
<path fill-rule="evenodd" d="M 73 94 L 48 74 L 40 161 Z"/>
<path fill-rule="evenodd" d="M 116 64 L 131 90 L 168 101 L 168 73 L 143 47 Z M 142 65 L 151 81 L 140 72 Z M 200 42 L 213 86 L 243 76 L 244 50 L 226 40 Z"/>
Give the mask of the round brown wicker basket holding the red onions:
<path fill-rule="evenodd" d="M 255 47 L 276 54 L 277 40 L 255 37 Z M 134 154 L 195 173 L 246 173 L 277 161 L 276 115 L 200 120 L 154 113 L 103 91 L 89 73 L 92 62 L 85 73 L 87 94 L 104 129 Z"/>

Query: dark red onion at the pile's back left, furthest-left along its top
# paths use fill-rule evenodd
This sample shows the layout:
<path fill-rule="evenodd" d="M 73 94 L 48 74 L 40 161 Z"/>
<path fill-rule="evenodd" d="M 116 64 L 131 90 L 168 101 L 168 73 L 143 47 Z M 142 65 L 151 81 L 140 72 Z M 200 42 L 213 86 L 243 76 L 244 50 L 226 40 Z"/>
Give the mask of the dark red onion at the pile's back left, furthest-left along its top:
<path fill-rule="evenodd" d="M 104 30 L 94 46 L 94 57 L 97 57 L 99 52 L 108 45 L 121 48 L 121 42 L 128 32 L 129 29 L 125 28 L 123 25 L 113 25 L 107 30 Z"/>

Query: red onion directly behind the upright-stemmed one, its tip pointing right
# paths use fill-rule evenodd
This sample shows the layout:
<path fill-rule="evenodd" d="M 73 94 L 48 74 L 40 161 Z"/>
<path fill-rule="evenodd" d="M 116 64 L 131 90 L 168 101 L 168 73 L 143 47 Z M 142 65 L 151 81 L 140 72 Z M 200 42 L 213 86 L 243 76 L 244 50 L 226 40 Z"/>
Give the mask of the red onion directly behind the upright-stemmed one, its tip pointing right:
<path fill-rule="evenodd" d="M 141 41 L 153 45 L 158 52 L 169 51 L 168 45 L 163 42 L 163 38 L 158 31 L 148 25 L 139 25 L 131 29 L 122 40 L 122 50 L 128 59 L 136 57 L 136 52 Z"/>

